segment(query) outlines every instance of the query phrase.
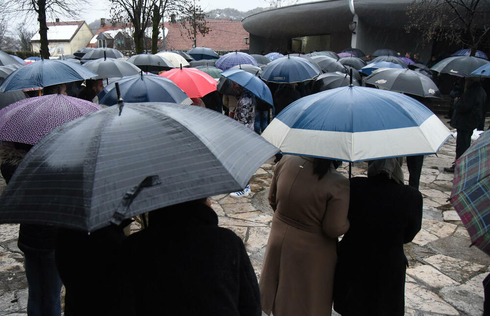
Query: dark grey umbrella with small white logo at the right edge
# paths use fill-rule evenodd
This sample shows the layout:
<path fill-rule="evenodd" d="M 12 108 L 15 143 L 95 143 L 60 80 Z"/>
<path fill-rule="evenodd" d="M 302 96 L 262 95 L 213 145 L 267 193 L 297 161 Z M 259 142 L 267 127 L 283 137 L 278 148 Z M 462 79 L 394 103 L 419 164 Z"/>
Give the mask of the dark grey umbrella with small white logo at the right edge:
<path fill-rule="evenodd" d="M 456 56 L 442 59 L 432 66 L 430 70 L 441 74 L 450 74 L 458 77 L 467 77 L 477 68 L 488 64 L 489 61 L 473 56 Z"/>

